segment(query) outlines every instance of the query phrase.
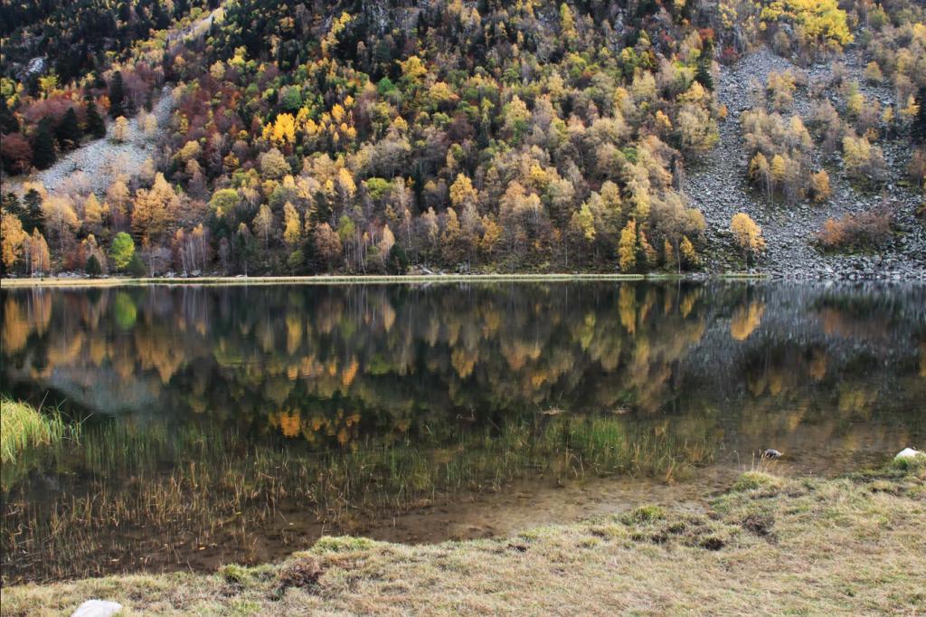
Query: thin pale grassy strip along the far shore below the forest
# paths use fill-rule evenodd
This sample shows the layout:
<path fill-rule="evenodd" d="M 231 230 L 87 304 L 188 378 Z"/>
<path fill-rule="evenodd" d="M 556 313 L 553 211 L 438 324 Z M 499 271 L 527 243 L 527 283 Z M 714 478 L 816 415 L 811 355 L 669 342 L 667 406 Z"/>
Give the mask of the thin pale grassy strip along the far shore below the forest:
<path fill-rule="evenodd" d="M 751 280 L 764 278 L 758 274 L 714 274 L 713 278 Z M 22 278 L 2 279 L 0 287 L 114 287 L 123 285 L 257 285 L 257 284 L 356 284 L 356 283 L 504 283 L 557 281 L 675 281 L 691 276 L 675 274 L 407 274 L 405 276 L 379 275 L 332 275 L 332 276 L 201 276 L 196 278 L 129 278 L 107 277 L 100 279 L 81 278 Z"/>

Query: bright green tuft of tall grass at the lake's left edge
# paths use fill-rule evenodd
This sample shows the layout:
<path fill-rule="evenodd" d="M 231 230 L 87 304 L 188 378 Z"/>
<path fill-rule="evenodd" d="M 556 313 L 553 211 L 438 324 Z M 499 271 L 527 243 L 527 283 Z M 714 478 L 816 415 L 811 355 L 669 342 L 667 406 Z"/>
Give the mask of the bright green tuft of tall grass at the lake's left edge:
<path fill-rule="evenodd" d="M 31 447 L 49 446 L 76 437 L 80 425 L 69 425 L 57 411 L 43 413 L 28 403 L 0 399 L 0 460 L 12 463 Z"/>

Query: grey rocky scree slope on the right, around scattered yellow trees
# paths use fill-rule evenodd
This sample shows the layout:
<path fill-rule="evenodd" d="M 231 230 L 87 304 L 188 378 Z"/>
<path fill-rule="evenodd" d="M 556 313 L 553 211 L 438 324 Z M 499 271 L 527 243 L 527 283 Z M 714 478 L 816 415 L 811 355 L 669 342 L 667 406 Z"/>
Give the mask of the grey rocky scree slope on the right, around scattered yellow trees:
<path fill-rule="evenodd" d="M 847 79 L 857 80 L 866 99 L 877 99 L 882 105 L 893 103 L 889 89 L 873 86 L 862 78 L 863 62 L 857 48 L 847 49 L 843 60 Z M 888 204 L 895 208 L 897 232 L 891 245 L 879 254 L 823 254 L 812 244 L 814 233 L 828 218 L 838 219 L 848 213 L 864 212 L 882 203 L 881 193 L 865 193 L 853 187 L 842 173 L 841 162 L 836 172 L 832 165 L 826 166 L 830 171 L 832 195 L 822 204 L 808 200 L 793 205 L 767 202 L 747 182 L 749 161 L 740 115 L 752 107 L 749 84 L 755 79 L 764 85 L 771 71 L 786 69 L 804 72 L 807 83 L 832 76 L 829 63 L 802 69 L 788 59 L 776 56 L 768 48 L 762 48 L 743 57 L 734 66 L 720 70 L 716 93 L 720 103 L 727 106 L 729 114 L 720 123 L 720 143 L 689 170 L 682 184 L 691 205 L 701 209 L 707 220 L 706 270 L 724 272 L 742 269 L 742 259 L 732 242 L 730 220 L 737 212 L 745 212 L 761 225 L 768 243 L 765 255 L 757 264 L 759 272 L 784 278 L 926 280 L 926 229 L 915 215 L 920 195 L 899 184 L 906 176 L 905 167 L 909 159 L 906 137 L 878 141 L 889 173 L 884 191 Z M 830 96 L 835 105 L 836 94 Z M 783 111 L 782 116 L 799 114 L 807 122 L 810 108 L 807 88 L 798 87 L 793 106 Z M 816 159 L 818 157 L 819 153 L 815 150 L 814 166 L 822 169 L 824 165 Z"/>

